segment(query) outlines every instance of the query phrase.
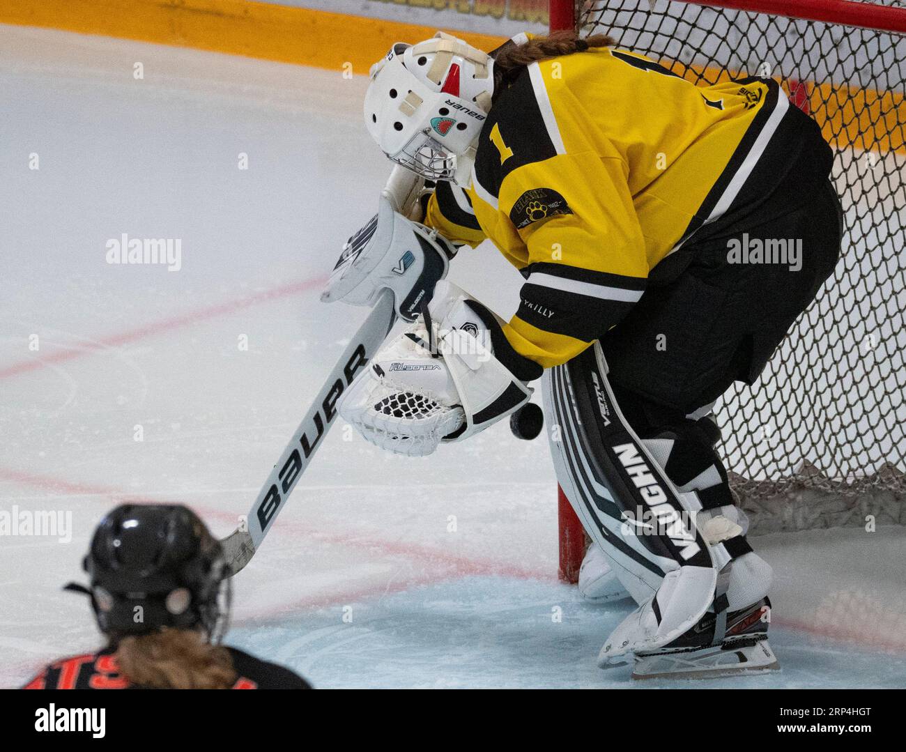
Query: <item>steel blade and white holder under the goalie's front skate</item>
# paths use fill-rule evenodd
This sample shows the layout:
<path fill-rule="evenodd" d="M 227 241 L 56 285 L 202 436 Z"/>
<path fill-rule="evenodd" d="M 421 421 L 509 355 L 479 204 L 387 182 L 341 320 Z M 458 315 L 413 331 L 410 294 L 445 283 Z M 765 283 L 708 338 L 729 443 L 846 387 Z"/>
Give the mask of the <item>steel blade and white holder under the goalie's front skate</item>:
<path fill-rule="evenodd" d="M 664 651 L 635 656 L 632 679 L 720 679 L 756 676 L 780 670 L 780 663 L 767 640 L 745 646 L 701 648 L 696 651 Z"/>

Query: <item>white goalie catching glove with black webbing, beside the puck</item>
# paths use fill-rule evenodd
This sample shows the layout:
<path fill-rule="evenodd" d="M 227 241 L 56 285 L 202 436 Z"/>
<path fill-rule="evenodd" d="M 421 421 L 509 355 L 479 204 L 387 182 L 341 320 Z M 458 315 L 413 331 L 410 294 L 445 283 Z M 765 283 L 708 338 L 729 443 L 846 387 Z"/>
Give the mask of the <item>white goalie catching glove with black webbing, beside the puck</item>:
<path fill-rule="evenodd" d="M 438 282 L 431 303 L 385 344 L 340 403 L 342 418 L 372 444 L 431 454 L 518 410 L 542 367 L 518 354 L 486 306 Z"/>

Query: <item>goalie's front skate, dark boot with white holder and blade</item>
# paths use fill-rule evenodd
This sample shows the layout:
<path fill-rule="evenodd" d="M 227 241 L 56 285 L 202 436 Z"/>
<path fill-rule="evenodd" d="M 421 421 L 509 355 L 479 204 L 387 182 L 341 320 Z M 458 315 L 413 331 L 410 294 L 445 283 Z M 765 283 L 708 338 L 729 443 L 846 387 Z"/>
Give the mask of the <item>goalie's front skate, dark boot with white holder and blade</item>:
<path fill-rule="evenodd" d="M 778 670 L 780 663 L 767 642 L 769 613 L 765 598 L 728 614 L 727 635 L 717 645 L 709 644 L 715 618 L 713 612 L 707 613 L 669 647 L 636 653 L 632 679 L 718 679 Z"/>

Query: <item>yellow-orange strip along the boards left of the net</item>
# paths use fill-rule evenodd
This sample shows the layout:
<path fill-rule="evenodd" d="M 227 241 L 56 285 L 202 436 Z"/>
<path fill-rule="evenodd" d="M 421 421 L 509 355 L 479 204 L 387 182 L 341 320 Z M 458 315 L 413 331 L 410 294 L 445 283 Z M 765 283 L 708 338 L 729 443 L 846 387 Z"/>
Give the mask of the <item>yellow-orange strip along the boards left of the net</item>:
<path fill-rule="evenodd" d="M 2 0 L 0 23 L 48 26 L 367 74 L 394 42 L 437 31 L 250 0 Z M 505 37 L 452 32 L 479 50 Z"/>

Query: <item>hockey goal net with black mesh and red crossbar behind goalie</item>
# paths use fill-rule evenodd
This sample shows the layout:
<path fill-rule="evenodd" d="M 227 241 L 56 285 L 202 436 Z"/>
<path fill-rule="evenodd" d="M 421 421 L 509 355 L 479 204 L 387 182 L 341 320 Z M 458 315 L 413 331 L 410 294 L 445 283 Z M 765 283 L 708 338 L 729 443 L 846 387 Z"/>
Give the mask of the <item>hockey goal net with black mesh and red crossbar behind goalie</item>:
<path fill-rule="evenodd" d="M 692 82 L 773 77 L 821 125 L 843 255 L 759 381 L 718 401 L 721 450 L 753 533 L 906 524 L 906 0 L 552 0 L 551 24 Z"/>

